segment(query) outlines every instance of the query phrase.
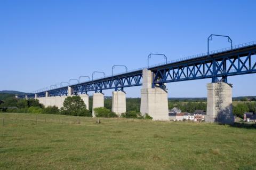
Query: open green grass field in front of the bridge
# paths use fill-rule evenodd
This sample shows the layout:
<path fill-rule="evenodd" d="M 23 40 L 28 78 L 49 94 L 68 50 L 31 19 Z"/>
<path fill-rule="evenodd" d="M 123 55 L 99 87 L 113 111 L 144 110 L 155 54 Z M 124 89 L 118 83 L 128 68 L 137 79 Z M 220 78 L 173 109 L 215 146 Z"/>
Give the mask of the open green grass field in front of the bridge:
<path fill-rule="evenodd" d="M 0 169 L 256 169 L 255 128 L 133 119 L 95 124 L 33 114 L 0 120 Z"/>

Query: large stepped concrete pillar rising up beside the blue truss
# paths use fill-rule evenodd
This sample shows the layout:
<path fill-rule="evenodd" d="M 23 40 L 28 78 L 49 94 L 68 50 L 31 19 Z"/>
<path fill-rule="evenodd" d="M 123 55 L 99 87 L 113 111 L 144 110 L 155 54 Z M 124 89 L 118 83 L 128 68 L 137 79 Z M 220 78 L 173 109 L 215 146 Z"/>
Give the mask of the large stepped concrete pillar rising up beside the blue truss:
<path fill-rule="evenodd" d="M 142 115 L 148 114 L 153 117 L 153 120 L 169 120 L 167 90 L 152 88 L 152 83 L 153 73 L 144 69 L 140 112 Z"/>

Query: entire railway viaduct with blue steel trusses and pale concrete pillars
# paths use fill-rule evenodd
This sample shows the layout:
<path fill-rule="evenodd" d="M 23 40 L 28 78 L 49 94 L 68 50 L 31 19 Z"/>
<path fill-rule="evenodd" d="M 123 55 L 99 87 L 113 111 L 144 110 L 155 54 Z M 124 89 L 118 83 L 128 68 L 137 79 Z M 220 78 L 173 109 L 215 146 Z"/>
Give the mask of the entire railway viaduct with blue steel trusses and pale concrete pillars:
<path fill-rule="evenodd" d="M 46 88 L 41 92 L 17 97 L 38 99 L 46 107 L 57 106 L 60 108 L 67 96 L 80 95 L 86 107 L 89 108 L 87 92 L 93 91 L 92 108 L 94 109 L 104 106 L 102 91 L 113 89 L 112 111 L 120 115 L 126 112 L 124 88 L 142 86 L 141 113 L 149 114 L 154 120 L 169 120 L 166 83 L 209 78 L 211 83 L 207 84 L 206 122 L 233 124 L 233 85 L 228 83 L 228 77 L 256 73 L 256 42 L 232 46 L 230 37 L 223 36 L 228 38 L 231 46 L 209 52 L 209 41 L 212 36 L 220 35 L 209 36 L 207 53 L 169 62 L 164 54 L 150 54 L 148 60 L 151 56 L 158 55 L 163 57 L 166 62 L 133 71 L 127 71 L 124 66 L 126 72 L 122 74 L 112 74 L 99 79 L 92 77 L 92 80 L 84 83 L 79 83 L 78 80 L 78 84 L 75 85 Z M 92 114 L 95 116 L 94 112 Z"/>

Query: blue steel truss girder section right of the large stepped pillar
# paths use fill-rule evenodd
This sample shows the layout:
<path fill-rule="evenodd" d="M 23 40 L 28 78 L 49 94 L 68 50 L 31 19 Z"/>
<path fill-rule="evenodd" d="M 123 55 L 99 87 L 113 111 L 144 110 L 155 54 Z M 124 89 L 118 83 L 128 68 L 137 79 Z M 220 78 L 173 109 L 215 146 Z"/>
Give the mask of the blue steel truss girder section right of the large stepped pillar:
<path fill-rule="evenodd" d="M 252 58 L 253 57 L 253 58 Z M 155 85 L 193 79 L 222 77 L 256 73 L 256 50 L 237 52 L 222 56 L 210 56 L 153 70 Z M 153 85 L 154 86 L 154 85 Z"/>

